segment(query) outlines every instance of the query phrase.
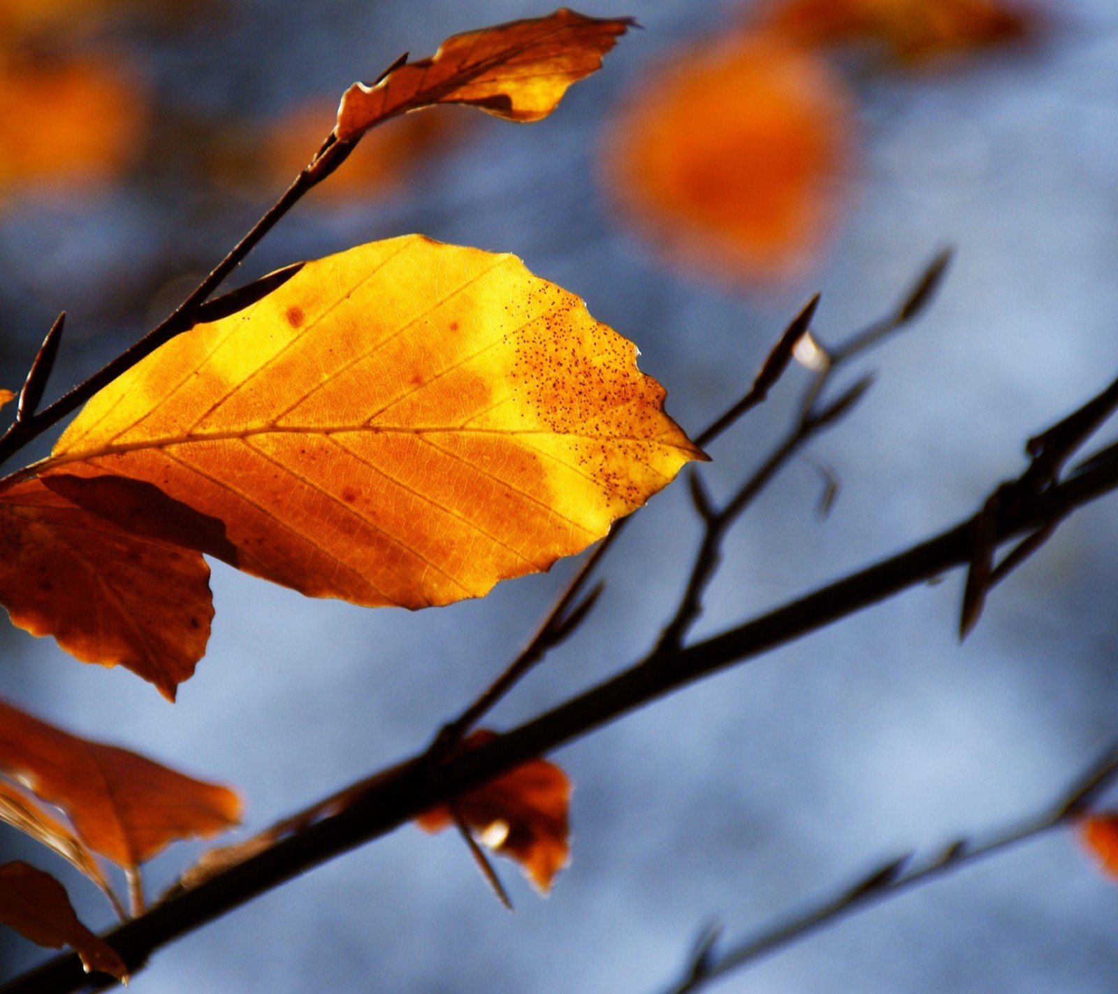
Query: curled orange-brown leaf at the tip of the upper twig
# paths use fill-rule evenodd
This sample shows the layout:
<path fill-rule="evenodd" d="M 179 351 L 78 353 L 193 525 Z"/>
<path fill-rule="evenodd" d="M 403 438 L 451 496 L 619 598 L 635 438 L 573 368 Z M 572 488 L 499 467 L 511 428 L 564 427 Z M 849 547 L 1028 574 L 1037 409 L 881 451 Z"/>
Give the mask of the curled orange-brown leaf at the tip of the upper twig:
<path fill-rule="evenodd" d="M 632 26 L 560 9 L 447 38 L 435 55 L 396 66 L 372 86 L 342 96 L 334 133 L 360 138 L 398 114 L 434 104 L 468 104 L 506 121 L 539 121 L 572 83 L 601 68 L 601 57 Z"/>

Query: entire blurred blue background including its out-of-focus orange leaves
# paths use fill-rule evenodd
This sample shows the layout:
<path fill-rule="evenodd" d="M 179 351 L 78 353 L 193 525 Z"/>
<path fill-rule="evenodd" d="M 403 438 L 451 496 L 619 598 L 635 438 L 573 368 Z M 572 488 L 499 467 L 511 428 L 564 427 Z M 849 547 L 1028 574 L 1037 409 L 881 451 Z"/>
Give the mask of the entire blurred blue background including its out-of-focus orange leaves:
<path fill-rule="evenodd" d="M 645 30 L 531 127 L 445 108 L 390 123 L 241 276 L 411 230 L 514 252 L 634 339 L 672 414 L 697 429 L 812 291 L 826 343 L 956 246 L 929 315 L 873 357 L 881 377 L 864 404 L 735 532 L 701 632 L 969 514 L 1017 472 L 1029 434 L 1118 370 L 1109 0 L 581 10 L 633 15 Z M 353 79 L 405 49 L 544 12 L 527 0 L 4 0 L 2 385 L 20 382 L 59 310 L 58 390 L 163 316 L 313 153 Z M 796 386 L 793 375 L 713 447 L 716 492 L 783 429 Z M 842 483 L 823 522 L 819 462 Z M 654 641 L 698 538 L 690 513 L 683 487 L 641 513 L 586 628 L 498 725 Z M 409 829 L 182 940 L 136 983 L 654 991 L 704 922 L 740 933 L 883 856 L 1061 791 L 1118 728 L 1116 548 L 1111 500 L 998 588 L 961 647 L 951 576 L 563 749 L 575 861 L 546 903 L 518 881 L 508 916 L 449 833 Z M 2 692 L 238 785 L 259 827 L 423 745 L 528 637 L 569 568 L 409 615 L 306 600 L 217 565 L 210 651 L 177 706 L 11 628 Z M 0 846 L 39 859 L 7 830 Z M 184 852 L 155 861 L 153 891 Z M 66 879 L 84 918 L 107 925 L 93 888 Z M 1118 889 L 1058 835 L 723 988 L 1102 992 L 1116 936 Z M 2 975 L 40 957 L 10 943 Z"/>

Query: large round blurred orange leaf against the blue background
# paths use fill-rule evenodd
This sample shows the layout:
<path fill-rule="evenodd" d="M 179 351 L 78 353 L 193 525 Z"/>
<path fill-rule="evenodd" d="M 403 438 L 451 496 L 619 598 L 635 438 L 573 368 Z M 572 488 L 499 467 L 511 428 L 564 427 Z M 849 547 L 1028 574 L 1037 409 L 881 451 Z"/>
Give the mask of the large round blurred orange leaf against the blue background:
<path fill-rule="evenodd" d="M 606 179 L 669 256 L 739 284 L 787 281 L 849 196 L 854 116 L 827 65 L 771 35 L 648 73 L 608 132 Z"/>

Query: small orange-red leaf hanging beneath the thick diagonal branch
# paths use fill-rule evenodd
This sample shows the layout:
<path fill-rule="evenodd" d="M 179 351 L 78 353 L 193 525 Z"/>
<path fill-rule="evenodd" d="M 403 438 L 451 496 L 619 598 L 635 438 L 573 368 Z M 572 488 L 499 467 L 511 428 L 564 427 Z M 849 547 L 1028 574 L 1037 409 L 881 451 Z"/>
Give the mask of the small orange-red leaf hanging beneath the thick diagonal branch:
<path fill-rule="evenodd" d="M 494 738 L 479 729 L 463 749 L 476 748 Z M 518 766 L 483 787 L 470 791 L 453 805 L 424 812 L 416 824 L 440 832 L 455 822 L 455 814 L 477 839 L 494 852 L 520 863 L 532 883 L 547 893 L 556 874 L 570 861 L 570 779 L 546 759 Z"/>

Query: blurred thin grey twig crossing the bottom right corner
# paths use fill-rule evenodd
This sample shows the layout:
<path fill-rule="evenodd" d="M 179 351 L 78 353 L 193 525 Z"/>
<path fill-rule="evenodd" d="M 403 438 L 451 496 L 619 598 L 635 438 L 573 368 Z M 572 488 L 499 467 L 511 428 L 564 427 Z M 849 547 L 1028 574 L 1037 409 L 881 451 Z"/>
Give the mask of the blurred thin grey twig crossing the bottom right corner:
<path fill-rule="evenodd" d="M 1097 796 L 1116 775 L 1118 775 L 1118 744 L 1111 746 L 1100 759 L 1092 763 L 1080 779 L 1054 804 L 1039 813 L 993 833 L 983 843 L 975 844 L 968 839 L 959 839 L 940 846 L 935 855 L 917 867 L 906 869 L 911 856 L 890 860 L 853 886 L 843 888 L 837 894 L 759 929 L 751 938 L 739 941 L 729 949 L 717 954 L 708 952 L 702 960 L 689 957 L 683 979 L 669 988 L 665 994 L 692 994 L 719 977 L 771 955 L 828 925 L 834 925 L 841 918 L 1065 825 L 1069 821 L 1078 818 L 1088 798 Z"/>

